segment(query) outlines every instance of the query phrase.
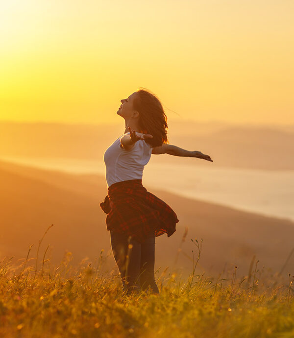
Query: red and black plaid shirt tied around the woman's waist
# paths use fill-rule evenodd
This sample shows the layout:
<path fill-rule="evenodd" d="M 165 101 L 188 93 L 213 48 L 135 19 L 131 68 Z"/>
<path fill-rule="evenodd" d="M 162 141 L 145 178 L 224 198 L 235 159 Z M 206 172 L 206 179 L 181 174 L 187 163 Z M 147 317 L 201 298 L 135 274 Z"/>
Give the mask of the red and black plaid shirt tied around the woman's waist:
<path fill-rule="evenodd" d="M 107 230 L 132 236 L 141 243 L 154 232 L 155 237 L 165 233 L 172 236 L 179 221 L 167 203 L 147 192 L 142 179 L 112 184 L 100 207 L 107 214 Z"/>

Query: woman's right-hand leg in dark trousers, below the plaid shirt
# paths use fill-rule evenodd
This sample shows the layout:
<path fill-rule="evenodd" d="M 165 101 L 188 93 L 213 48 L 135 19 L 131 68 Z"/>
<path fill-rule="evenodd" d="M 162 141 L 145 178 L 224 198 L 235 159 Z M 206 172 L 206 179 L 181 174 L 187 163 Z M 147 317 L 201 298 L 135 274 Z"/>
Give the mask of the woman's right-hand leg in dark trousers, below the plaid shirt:
<path fill-rule="evenodd" d="M 150 286 L 152 293 L 159 294 L 155 278 L 154 278 L 154 263 L 155 263 L 155 234 L 141 244 L 141 272 L 140 284 L 141 289 L 146 290 Z"/>

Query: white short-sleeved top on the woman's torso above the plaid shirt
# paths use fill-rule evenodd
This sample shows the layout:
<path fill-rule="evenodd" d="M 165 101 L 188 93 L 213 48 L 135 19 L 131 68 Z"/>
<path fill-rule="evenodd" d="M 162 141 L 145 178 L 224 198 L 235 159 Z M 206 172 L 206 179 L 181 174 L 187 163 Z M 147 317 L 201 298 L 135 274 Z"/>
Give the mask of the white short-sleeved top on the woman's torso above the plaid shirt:
<path fill-rule="evenodd" d="M 127 135 L 129 132 L 123 134 Z M 142 179 L 143 169 L 151 157 L 152 147 L 145 140 L 139 140 L 130 150 L 121 147 L 120 138 L 114 141 L 104 152 L 107 187 L 112 184 Z"/>

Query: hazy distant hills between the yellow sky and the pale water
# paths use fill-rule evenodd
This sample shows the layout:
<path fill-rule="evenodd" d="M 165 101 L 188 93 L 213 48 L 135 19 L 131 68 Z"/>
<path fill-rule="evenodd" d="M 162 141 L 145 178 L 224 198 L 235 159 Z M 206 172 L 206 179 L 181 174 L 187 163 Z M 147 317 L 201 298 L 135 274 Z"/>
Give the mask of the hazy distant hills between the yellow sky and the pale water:
<path fill-rule="evenodd" d="M 209 154 L 213 163 L 197 165 L 233 168 L 293 170 L 294 131 L 281 126 L 233 125 L 222 122 L 170 121 L 170 144 Z M 105 149 L 124 132 L 118 124 L 64 124 L 0 122 L 1 156 L 61 157 L 103 160 Z M 156 161 L 177 163 L 159 155 Z M 181 162 L 191 163 L 182 158 Z"/>

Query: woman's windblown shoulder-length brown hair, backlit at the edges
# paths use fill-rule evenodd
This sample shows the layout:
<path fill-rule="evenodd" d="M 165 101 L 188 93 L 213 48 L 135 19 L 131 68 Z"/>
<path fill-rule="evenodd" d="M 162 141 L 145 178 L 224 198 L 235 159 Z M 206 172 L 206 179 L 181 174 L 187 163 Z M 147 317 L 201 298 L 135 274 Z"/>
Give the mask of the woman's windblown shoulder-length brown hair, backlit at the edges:
<path fill-rule="evenodd" d="M 168 118 L 161 102 L 155 94 L 146 89 L 139 89 L 133 106 L 139 112 L 139 126 L 144 134 L 153 137 L 145 140 L 151 147 L 169 143 L 167 137 Z"/>

